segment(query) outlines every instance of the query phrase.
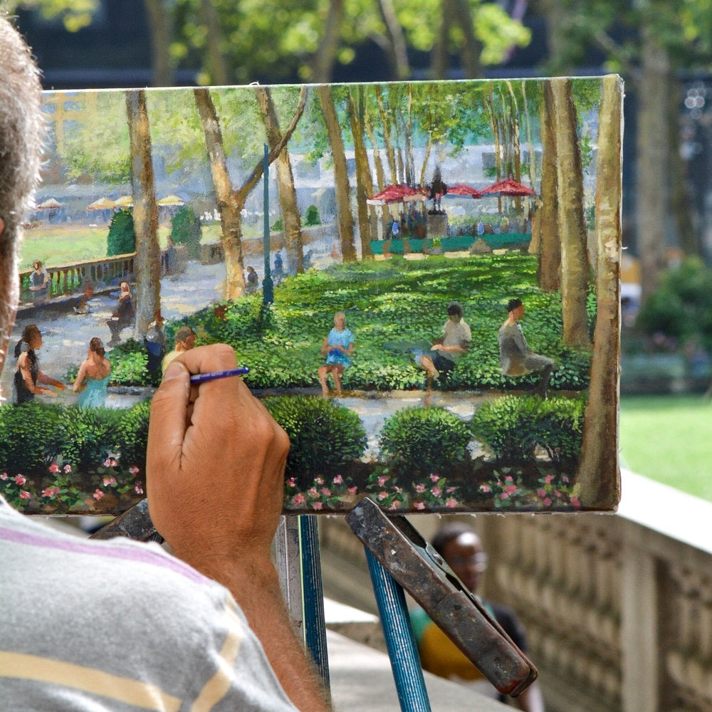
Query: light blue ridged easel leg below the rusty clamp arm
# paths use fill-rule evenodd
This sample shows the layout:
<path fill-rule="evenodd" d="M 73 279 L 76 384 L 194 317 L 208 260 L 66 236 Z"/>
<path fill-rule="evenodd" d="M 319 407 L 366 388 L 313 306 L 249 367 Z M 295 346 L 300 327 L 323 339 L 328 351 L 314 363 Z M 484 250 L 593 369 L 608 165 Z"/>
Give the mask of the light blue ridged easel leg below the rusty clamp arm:
<path fill-rule="evenodd" d="M 403 589 L 368 549 L 365 552 L 401 710 L 431 712 Z"/>

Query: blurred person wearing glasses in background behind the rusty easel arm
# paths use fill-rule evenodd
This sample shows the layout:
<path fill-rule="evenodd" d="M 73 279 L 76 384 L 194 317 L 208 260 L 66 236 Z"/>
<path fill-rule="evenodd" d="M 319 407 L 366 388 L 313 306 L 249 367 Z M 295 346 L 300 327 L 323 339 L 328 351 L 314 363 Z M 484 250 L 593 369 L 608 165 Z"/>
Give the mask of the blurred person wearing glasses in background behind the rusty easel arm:
<path fill-rule="evenodd" d="M 462 521 L 445 523 L 435 533 L 431 545 L 463 585 L 476 595 L 481 577 L 487 568 L 488 556 L 473 528 Z M 526 653 L 526 635 L 513 610 L 481 597 L 478 597 L 478 600 L 501 625 L 514 644 Z M 413 609 L 410 618 L 424 670 L 471 686 L 480 694 L 505 701 L 505 698 L 500 696 L 459 648 L 429 619 L 423 609 Z M 543 697 L 536 682 L 515 698 L 515 703 L 525 712 L 544 710 Z"/>

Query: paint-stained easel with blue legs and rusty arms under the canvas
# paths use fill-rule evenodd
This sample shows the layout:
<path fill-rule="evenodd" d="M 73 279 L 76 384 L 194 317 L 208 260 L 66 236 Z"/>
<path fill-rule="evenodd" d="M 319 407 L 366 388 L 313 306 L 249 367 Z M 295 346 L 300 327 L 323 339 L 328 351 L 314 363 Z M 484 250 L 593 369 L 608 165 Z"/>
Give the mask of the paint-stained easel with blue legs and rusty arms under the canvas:
<path fill-rule="evenodd" d="M 317 515 L 285 515 L 276 534 L 283 596 L 328 691 L 329 662 Z M 346 517 L 365 546 L 402 712 L 431 712 L 404 590 L 501 693 L 517 696 L 537 676 L 529 659 L 402 516 L 366 498 Z M 93 535 L 160 540 L 144 500 Z"/>

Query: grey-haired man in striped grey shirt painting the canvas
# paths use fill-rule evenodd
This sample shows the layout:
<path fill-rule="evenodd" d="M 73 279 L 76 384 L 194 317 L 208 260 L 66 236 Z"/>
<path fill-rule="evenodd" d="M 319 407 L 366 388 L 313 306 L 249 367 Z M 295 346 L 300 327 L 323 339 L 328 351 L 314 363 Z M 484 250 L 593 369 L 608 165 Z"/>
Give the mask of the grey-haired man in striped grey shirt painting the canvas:
<path fill-rule="evenodd" d="M 21 225 L 38 180 L 41 87 L 0 16 L 0 368 Z M 0 497 L 0 708 L 23 712 L 325 712 L 270 545 L 289 441 L 226 345 L 179 355 L 152 401 L 147 490 L 172 548 L 83 540 Z"/>

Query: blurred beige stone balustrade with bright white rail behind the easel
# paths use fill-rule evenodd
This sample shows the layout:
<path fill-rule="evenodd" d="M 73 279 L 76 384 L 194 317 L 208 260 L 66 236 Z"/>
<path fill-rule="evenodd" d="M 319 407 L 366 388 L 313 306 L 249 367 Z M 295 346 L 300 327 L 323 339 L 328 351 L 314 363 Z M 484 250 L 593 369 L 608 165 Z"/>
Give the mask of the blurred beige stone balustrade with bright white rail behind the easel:
<path fill-rule="evenodd" d="M 616 514 L 471 518 L 481 593 L 525 625 L 548 712 L 712 710 L 712 503 L 627 471 L 622 490 Z M 430 538 L 435 519 L 412 521 Z M 342 520 L 320 530 L 360 565 Z"/>

